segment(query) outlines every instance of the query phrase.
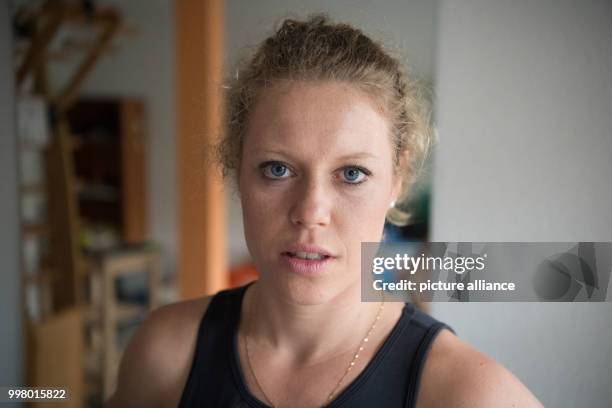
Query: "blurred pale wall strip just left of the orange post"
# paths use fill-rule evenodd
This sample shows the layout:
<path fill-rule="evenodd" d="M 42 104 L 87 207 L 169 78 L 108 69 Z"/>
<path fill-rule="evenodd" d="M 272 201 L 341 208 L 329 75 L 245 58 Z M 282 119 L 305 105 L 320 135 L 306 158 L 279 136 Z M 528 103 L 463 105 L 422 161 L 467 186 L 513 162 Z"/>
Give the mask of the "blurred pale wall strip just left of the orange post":
<path fill-rule="evenodd" d="M 177 262 L 176 115 L 174 6 L 172 0 L 100 1 L 114 5 L 130 35 L 113 42 L 116 52 L 104 55 L 82 86 L 96 95 L 141 97 L 147 107 L 148 226 L 160 243 L 166 272 Z M 68 69 L 54 70 L 57 83 Z"/>

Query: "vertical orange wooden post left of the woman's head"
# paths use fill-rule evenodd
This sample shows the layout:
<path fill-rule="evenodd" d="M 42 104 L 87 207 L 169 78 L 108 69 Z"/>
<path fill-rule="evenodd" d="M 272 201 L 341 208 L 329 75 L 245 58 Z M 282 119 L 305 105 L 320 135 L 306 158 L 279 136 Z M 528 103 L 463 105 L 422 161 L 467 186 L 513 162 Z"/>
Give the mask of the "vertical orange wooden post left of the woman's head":
<path fill-rule="evenodd" d="M 223 184 L 205 159 L 222 128 L 223 2 L 175 2 L 179 285 L 183 299 L 227 287 Z"/>

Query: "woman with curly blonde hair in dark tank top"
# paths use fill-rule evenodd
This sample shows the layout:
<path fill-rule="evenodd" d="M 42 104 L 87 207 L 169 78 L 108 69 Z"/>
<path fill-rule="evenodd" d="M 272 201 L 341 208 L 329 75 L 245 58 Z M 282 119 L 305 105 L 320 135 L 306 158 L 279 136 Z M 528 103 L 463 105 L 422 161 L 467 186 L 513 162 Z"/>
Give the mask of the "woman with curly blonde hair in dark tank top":
<path fill-rule="evenodd" d="M 224 174 L 257 282 L 154 312 L 113 406 L 531 407 L 507 370 L 409 304 L 361 302 L 429 144 L 396 59 L 324 16 L 286 20 L 230 87 Z"/>

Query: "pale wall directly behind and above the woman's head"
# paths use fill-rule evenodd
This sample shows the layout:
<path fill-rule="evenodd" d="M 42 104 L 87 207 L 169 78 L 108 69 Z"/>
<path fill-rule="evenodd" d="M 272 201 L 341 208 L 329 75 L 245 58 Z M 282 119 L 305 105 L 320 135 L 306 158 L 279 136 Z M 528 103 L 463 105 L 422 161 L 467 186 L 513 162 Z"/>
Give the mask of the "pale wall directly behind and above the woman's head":
<path fill-rule="evenodd" d="M 434 75 L 436 1 L 432 0 L 226 0 L 226 67 L 249 55 L 286 17 L 303 18 L 327 12 L 336 21 L 355 24 L 397 51 L 425 81 Z M 249 259 L 240 203 L 228 190 L 229 260 L 231 265 Z"/>

